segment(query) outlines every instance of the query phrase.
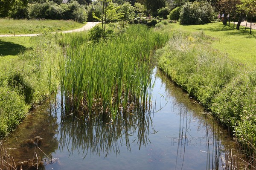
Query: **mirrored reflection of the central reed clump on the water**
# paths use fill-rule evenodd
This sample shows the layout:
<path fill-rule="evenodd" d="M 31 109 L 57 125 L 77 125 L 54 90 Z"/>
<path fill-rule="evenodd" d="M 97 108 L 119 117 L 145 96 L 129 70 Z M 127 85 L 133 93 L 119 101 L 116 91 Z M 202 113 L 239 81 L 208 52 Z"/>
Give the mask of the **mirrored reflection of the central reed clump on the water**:
<path fill-rule="evenodd" d="M 150 143 L 149 133 L 156 132 L 150 112 L 138 109 L 133 110 L 133 113 L 122 112 L 112 124 L 109 123 L 111 118 L 106 114 L 95 116 L 87 122 L 71 115 L 63 117 L 58 134 L 60 149 L 67 147 L 70 154 L 77 151 L 84 158 L 87 154 L 108 156 L 113 152 L 118 155 L 120 146 L 126 146 L 131 151 L 131 144 L 136 144 L 140 149 Z"/>

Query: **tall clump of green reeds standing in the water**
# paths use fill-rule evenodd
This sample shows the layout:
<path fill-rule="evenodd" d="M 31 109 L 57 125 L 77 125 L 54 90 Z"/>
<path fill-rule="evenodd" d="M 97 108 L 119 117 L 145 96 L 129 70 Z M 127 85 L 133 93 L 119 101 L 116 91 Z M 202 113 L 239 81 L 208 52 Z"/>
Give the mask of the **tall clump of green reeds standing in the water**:
<path fill-rule="evenodd" d="M 130 104 L 144 106 L 151 82 L 151 54 L 167 36 L 146 26 L 130 26 L 122 35 L 88 43 L 71 39 L 60 58 L 61 93 L 67 110 L 108 112 L 115 118 Z"/>

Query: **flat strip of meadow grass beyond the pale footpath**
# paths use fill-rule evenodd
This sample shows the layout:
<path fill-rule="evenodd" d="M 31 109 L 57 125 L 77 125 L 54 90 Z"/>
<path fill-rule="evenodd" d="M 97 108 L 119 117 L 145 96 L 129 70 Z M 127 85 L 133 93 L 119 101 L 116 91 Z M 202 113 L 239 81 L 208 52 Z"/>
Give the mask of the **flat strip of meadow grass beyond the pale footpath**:
<path fill-rule="evenodd" d="M 38 34 L 44 29 L 50 32 L 66 31 L 81 28 L 84 23 L 71 20 L 14 20 L 0 19 L 0 35 L 3 34 Z"/>

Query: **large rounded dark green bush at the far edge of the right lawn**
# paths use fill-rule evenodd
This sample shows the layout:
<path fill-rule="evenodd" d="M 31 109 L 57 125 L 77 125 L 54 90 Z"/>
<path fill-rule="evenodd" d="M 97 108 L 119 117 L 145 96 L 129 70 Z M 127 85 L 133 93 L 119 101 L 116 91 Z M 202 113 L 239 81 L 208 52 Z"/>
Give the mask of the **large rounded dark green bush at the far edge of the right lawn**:
<path fill-rule="evenodd" d="M 187 2 L 180 11 L 181 24 L 210 23 L 213 18 L 213 8 L 203 2 Z"/>

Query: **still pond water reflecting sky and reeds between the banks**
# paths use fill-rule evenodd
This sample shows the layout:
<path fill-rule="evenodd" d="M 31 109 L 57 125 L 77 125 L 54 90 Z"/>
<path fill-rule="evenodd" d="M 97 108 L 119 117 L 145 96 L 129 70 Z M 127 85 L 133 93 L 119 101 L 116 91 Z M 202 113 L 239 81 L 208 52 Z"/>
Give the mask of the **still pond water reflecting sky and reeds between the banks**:
<path fill-rule="evenodd" d="M 109 124 L 105 115 L 84 122 L 47 104 L 7 139 L 9 153 L 16 162 L 36 153 L 47 170 L 222 169 L 228 132 L 157 69 L 153 77 L 148 111 L 134 109 Z M 28 144 L 36 136 L 42 142 Z"/>

